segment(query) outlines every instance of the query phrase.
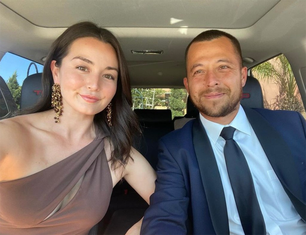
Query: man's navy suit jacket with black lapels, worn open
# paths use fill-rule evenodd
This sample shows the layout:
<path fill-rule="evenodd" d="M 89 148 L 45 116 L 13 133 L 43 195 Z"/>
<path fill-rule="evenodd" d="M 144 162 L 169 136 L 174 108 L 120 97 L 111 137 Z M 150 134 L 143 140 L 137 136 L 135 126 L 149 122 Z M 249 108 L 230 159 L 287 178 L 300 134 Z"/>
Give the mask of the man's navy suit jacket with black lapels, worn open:
<path fill-rule="evenodd" d="M 244 108 L 268 160 L 305 220 L 305 119 L 298 112 Z M 199 118 L 159 141 L 155 193 L 141 234 L 229 234 L 226 201 Z"/>

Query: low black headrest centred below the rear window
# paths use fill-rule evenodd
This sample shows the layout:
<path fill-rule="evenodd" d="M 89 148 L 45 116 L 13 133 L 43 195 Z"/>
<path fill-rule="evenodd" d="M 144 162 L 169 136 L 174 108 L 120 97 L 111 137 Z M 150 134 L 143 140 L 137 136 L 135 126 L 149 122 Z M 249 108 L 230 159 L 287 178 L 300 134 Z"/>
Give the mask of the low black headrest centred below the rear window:
<path fill-rule="evenodd" d="M 171 122 L 172 113 L 170 109 L 134 109 L 140 122 Z"/>

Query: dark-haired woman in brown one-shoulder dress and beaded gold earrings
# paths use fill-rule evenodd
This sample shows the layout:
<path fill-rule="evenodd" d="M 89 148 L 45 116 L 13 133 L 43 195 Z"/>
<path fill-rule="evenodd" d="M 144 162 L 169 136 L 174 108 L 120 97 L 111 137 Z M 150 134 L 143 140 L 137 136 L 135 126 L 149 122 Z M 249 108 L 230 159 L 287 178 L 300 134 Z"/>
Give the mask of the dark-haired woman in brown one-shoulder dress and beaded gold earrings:
<path fill-rule="evenodd" d="M 0 122 L 1 233 L 86 234 L 122 177 L 149 203 L 156 176 L 131 147 L 138 130 L 131 104 L 114 35 L 82 22 L 59 36 L 41 100 Z"/>

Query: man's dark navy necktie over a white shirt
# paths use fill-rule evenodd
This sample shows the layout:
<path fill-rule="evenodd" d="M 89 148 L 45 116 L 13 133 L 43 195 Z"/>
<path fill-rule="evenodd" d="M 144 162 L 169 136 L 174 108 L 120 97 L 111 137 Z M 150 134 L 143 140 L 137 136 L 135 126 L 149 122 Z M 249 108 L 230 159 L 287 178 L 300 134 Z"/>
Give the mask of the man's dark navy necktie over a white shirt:
<path fill-rule="evenodd" d="M 241 225 L 245 234 L 266 234 L 248 163 L 233 140 L 235 130 L 234 127 L 224 127 L 220 136 L 226 141 L 223 152 Z"/>

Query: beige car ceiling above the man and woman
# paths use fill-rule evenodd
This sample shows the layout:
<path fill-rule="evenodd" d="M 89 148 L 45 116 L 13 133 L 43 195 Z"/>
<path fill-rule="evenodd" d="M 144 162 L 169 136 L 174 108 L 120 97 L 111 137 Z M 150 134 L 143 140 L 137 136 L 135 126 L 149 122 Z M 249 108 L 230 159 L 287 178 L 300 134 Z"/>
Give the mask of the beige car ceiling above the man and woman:
<path fill-rule="evenodd" d="M 237 37 L 243 57 L 254 60 L 244 62 L 248 68 L 284 53 L 295 75 L 305 71 L 305 0 L 0 0 L 0 56 L 43 64 L 51 43 L 83 20 L 118 37 L 133 87 L 183 87 L 185 48 L 211 28 Z"/>

